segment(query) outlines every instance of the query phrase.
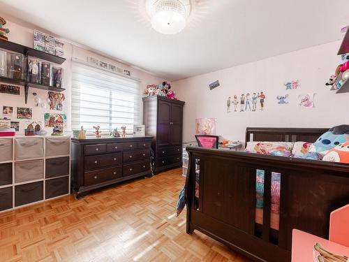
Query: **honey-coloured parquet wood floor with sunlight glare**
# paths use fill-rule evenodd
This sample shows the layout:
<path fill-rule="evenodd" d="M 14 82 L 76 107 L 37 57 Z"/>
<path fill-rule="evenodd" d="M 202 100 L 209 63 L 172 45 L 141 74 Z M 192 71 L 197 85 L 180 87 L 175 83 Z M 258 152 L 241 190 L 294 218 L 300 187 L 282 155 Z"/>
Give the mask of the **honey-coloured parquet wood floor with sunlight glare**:
<path fill-rule="evenodd" d="M 195 231 L 175 205 L 181 169 L 0 214 L 0 261 L 248 262 Z"/>

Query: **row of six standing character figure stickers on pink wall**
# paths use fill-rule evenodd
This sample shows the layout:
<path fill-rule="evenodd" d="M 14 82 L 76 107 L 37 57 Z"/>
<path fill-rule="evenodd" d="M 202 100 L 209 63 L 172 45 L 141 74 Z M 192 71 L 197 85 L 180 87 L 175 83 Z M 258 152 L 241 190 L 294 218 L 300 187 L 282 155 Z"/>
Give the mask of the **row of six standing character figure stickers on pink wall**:
<path fill-rule="evenodd" d="M 241 96 L 229 96 L 227 100 L 227 112 L 255 112 L 265 109 L 265 92 L 252 92 L 242 94 Z"/>

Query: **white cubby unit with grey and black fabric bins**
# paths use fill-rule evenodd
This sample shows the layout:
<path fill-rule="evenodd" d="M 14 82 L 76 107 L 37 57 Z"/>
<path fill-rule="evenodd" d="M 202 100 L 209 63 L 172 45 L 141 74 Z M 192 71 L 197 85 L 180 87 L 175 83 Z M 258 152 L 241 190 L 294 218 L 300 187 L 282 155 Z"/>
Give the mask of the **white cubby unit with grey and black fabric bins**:
<path fill-rule="evenodd" d="M 0 138 L 0 212 L 70 194 L 70 137 Z"/>

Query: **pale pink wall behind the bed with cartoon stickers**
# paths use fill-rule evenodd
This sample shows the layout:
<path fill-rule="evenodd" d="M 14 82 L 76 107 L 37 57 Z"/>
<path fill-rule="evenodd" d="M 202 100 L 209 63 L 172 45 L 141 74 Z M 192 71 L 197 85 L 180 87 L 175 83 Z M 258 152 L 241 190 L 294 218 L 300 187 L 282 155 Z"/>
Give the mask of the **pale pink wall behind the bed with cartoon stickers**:
<path fill-rule="evenodd" d="M 340 63 L 336 56 L 340 42 L 318 45 L 241 66 L 198 75 L 172 83 L 184 106 L 184 141 L 195 140 L 195 119 L 216 117 L 217 134 L 230 140 L 244 140 L 247 126 L 329 127 L 349 124 L 349 94 L 336 94 L 325 87 L 329 75 Z M 285 90 L 286 80 L 300 81 L 297 90 Z M 209 90 L 219 80 L 220 87 Z M 265 111 L 227 113 L 228 96 L 265 92 Z M 316 93 L 315 108 L 297 106 L 297 96 Z M 288 105 L 276 96 L 289 94 Z"/>

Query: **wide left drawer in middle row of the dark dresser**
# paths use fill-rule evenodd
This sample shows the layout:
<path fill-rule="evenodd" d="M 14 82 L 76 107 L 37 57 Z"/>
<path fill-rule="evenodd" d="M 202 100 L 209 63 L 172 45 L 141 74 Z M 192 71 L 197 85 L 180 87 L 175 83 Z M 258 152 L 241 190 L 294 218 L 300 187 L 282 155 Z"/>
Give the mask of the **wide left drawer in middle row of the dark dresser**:
<path fill-rule="evenodd" d="M 85 157 L 85 170 L 95 168 L 105 168 L 107 166 L 117 166 L 122 163 L 122 153 L 101 154 L 96 156 Z"/>

